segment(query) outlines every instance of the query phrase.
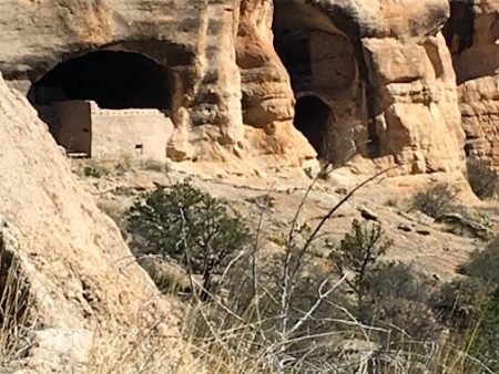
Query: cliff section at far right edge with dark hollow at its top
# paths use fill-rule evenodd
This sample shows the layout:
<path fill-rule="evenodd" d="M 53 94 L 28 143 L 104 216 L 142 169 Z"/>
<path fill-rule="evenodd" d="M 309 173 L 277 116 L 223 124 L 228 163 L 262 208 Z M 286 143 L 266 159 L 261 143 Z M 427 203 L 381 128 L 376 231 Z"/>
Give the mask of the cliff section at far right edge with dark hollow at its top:
<path fill-rule="evenodd" d="M 499 2 L 451 1 L 445 34 L 459 84 L 467 154 L 499 166 Z"/>

